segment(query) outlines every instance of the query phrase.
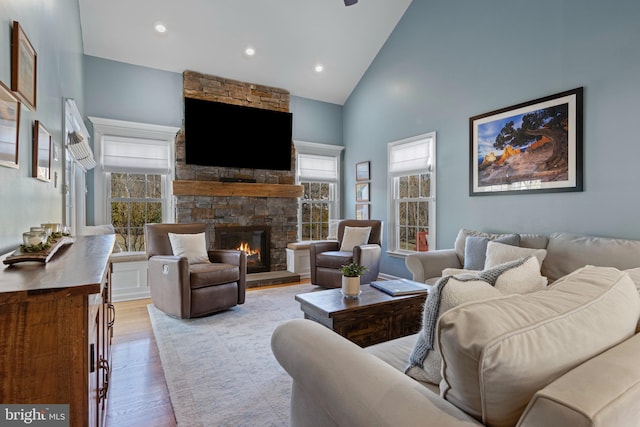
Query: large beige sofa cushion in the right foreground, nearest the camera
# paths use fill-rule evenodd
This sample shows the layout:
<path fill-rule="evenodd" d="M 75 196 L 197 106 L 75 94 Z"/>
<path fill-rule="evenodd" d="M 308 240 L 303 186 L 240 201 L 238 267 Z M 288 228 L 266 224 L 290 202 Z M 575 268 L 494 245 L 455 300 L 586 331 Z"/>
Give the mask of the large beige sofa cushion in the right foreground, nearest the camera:
<path fill-rule="evenodd" d="M 627 273 L 586 266 L 528 295 L 444 313 L 442 396 L 490 426 L 513 426 L 536 391 L 633 335 L 640 296 Z"/>

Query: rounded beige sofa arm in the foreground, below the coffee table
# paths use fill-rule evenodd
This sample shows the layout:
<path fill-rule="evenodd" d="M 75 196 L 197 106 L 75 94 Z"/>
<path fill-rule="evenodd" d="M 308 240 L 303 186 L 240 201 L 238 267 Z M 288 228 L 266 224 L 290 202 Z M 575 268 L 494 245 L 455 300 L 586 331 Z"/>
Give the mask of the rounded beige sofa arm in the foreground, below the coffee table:
<path fill-rule="evenodd" d="M 481 425 L 391 365 L 311 320 L 280 324 L 271 347 L 293 378 L 294 427 Z"/>

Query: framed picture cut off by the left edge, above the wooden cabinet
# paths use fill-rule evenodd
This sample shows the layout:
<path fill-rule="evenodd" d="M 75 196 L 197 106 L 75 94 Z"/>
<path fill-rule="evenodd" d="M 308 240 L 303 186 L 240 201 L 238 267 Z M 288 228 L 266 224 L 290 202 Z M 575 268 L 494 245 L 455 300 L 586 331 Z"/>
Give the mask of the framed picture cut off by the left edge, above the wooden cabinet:
<path fill-rule="evenodd" d="M 0 166 L 19 168 L 20 101 L 0 82 Z"/>

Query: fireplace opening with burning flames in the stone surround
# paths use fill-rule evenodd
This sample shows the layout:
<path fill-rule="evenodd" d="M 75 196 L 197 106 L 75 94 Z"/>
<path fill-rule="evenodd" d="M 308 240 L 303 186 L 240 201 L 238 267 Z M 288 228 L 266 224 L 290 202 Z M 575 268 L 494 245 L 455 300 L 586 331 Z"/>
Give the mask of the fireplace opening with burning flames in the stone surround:
<path fill-rule="evenodd" d="M 247 273 L 270 271 L 270 227 L 216 227 L 215 248 L 237 249 L 247 254 Z"/>

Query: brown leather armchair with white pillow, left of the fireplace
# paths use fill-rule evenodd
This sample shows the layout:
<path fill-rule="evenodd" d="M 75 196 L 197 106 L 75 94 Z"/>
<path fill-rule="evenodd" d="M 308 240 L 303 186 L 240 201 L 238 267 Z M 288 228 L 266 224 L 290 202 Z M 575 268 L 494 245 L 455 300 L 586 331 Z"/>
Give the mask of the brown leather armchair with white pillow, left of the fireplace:
<path fill-rule="evenodd" d="M 206 224 L 146 224 L 151 301 L 170 316 L 188 319 L 243 304 L 247 255 L 208 249 Z"/>

